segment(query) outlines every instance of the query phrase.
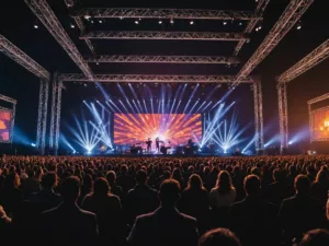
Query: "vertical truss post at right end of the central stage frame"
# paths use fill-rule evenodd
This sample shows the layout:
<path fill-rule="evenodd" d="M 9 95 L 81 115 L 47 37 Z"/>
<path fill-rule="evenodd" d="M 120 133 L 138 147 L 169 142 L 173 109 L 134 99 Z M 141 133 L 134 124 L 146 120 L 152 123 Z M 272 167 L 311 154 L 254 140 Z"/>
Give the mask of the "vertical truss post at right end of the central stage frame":
<path fill-rule="evenodd" d="M 263 124 L 263 96 L 261 82 L 253 84 L 253 105 L 254 105 L 254 148 L 256 151 L 264 150 L 264 124 Z"/>

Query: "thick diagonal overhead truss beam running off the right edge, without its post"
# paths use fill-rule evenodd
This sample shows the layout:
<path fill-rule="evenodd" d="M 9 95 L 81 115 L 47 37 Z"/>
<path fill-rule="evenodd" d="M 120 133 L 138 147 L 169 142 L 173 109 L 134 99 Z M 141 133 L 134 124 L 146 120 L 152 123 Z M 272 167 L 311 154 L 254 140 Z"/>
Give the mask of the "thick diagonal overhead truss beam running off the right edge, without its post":
<path fill-rule="evenodd" d="M 324 44 L 313 50 L 309 55 L 298 61 L 291 69 L 282 73 L 277 81 L 280 83 L 287 83 L 300 74 L 305 73 L 309 69 L 314 68 L 325 59 L 329 57 L 329 39 L 327 39 Z"/>

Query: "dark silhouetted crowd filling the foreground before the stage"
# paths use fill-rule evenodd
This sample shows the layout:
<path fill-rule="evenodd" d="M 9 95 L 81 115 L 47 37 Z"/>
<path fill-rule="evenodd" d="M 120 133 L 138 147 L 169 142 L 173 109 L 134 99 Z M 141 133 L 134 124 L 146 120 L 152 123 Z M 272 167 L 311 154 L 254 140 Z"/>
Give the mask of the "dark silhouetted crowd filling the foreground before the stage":
<path fill-rule="evenodd" d="M 1 245 L 329 245 L 329 156 L 0 159 Z"/>

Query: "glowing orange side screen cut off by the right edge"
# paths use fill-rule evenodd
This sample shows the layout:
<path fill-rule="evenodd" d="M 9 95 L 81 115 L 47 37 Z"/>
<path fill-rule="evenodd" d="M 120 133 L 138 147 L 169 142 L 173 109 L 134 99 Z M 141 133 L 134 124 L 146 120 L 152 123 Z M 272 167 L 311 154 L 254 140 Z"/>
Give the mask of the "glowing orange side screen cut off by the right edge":
<path fill-rule="evenodd" d="M 329 107 L 313 113 L 313 140 L 329 141 Z"/>

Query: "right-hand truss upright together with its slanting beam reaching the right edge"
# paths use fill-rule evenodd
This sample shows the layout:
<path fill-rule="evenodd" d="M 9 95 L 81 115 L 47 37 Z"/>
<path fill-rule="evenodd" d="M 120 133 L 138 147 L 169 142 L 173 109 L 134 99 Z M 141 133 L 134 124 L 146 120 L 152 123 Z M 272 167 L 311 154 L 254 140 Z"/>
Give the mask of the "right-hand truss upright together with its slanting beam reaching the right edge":
<path fill-rule="evenodd" d="M 288 149 L 287 83 L 307 72 L 328 57 L 329 39 L 277 78 L 279 121 L 282 151 Z"/>

